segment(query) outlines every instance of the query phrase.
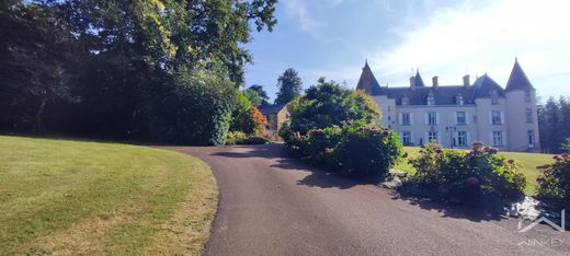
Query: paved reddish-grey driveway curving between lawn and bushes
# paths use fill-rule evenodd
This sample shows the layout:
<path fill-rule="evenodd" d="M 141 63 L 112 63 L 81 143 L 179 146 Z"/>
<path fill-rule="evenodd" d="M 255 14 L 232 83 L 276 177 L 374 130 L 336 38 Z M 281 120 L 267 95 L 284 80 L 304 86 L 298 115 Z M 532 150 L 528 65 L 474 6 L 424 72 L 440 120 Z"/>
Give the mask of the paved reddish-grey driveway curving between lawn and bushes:
<path fill-rule="evenodd" d="M 518 233 L 513 219 L 402 199 L 312 172 L 280 144 L 175 150 L 218 182 L 207 255 L 570 255 L 570 232 Z"/>

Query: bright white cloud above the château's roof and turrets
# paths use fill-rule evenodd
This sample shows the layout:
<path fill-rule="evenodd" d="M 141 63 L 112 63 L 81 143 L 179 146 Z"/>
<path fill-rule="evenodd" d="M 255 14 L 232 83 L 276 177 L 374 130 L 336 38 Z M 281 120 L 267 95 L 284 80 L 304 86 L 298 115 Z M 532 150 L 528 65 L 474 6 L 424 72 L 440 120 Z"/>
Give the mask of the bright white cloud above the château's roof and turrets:
<path fill-rule="evenodd" d="M 402 43 L 369 60 L 376 77 L 406 85 L 410 69 L 420 68 L 424 80 L 440 75 L 442 84 L 458 84 L 466 71 L 488 72 L 504 86 L 517 56 L 539 94 L 570 94 L 570 2 L 497 0 L 475 11 L 476 3 L 437 9 L 421 26 L 399 27 Z"/>

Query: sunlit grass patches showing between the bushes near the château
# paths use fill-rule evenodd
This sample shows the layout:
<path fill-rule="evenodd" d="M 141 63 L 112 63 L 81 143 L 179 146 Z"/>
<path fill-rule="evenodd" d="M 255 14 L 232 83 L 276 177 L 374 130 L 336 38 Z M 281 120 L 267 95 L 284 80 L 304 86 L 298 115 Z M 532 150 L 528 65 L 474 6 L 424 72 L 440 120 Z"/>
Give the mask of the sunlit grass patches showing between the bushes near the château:
<path fill-rule="evenodd" d="M 403 150 L 408 152 L 409 158 L 415 156 L 420 151 L 419 147 L 404 147 Z M 540 166 L 544 164 L 552 163 L 554 154 L 538 154 L 538 153 L 518 153 L 518 152 L 499 152 L 499 154 L 504 155 L 508 159 L 512 159 L 517 161 L 523 165 L 521 172 L 526 175 L 526 190 L 525 193 L 528 195 L 536 194 L 536 189 L 538 188 L 538 184 L 536 183 L 536 178 L 540 174 L 536 166 Z M 395 168 L 402 170 L 410 174 L 415 173 L 413 166 L 411 166 L 407 160 L 403 160 L 400 164 L 395 166 Z"/>

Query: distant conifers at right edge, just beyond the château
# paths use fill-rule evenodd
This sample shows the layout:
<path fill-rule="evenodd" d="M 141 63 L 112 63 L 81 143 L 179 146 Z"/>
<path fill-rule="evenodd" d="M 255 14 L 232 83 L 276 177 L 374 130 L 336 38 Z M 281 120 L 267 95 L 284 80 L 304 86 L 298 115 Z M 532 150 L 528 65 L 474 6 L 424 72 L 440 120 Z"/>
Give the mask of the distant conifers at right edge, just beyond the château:
<path fill-rule="evenodd" d="M 538 130 L 544 152 L 570 151 L 570 98 L 549 97 L 538 106 Z"/>

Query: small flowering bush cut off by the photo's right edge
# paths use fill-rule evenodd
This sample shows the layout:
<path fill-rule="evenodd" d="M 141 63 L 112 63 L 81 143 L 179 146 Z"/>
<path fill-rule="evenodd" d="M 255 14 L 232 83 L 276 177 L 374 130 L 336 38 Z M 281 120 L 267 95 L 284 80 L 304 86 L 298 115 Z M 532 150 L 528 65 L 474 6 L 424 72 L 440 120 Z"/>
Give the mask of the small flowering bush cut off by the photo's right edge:
<path fill-rule="evenodd" d="M 537 178 L 538 195 L 570 207 L 570 154 L 556 155 L 554 160 L 552 164 L 538 167 L 543 172 Z"/>

